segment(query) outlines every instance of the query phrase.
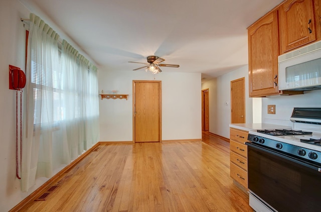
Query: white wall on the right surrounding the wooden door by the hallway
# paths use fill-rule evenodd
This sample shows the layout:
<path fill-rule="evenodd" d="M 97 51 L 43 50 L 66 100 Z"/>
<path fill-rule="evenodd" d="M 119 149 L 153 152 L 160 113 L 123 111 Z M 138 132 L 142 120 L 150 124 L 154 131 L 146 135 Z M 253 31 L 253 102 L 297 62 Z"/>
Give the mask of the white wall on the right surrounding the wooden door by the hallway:
<path fill-rule="evenodd" d="M 252 98 L 249 98 L 248 86 L 248 65 L 238 68 L 232 72 L 219 76 L 216 81 L 211 80 L 202 84 L 202 89 L 210 86 L 210 111 L 214 110 L 214 114 L 210 115 L 210 132 L 230 137 L 229 124 L 231 123 L 231 81 L 245 77 L 245 122 L 253 123 Z M 215 93 L 216 88 L 216 93 Z M 214 99 L 214 100 L 213 100 Z M 214 102 L 216 101 L 216 102 Z M 226 105 L 225 102 L 229 104 Z M 211 112 L 210 112 L 211 113 Z M 213 112 L 212 112 L 213 113 Z"/>

